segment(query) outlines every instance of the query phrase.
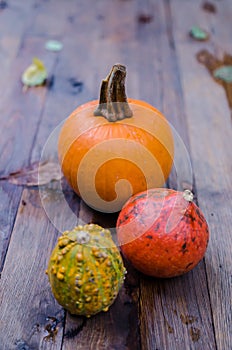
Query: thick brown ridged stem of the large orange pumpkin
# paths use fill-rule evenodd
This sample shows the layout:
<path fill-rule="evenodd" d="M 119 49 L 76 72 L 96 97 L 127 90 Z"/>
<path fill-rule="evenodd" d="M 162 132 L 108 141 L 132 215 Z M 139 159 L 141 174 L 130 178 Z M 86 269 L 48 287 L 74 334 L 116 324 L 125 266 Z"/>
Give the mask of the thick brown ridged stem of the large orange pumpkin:
<path fill-rule="evenodd" d="M 109 75 L 102 80 L 100 99 L 95 116 L 105 117 L 109 122 L 132 117 L 125 91 L 126 67 L 115 64 Z"/>

